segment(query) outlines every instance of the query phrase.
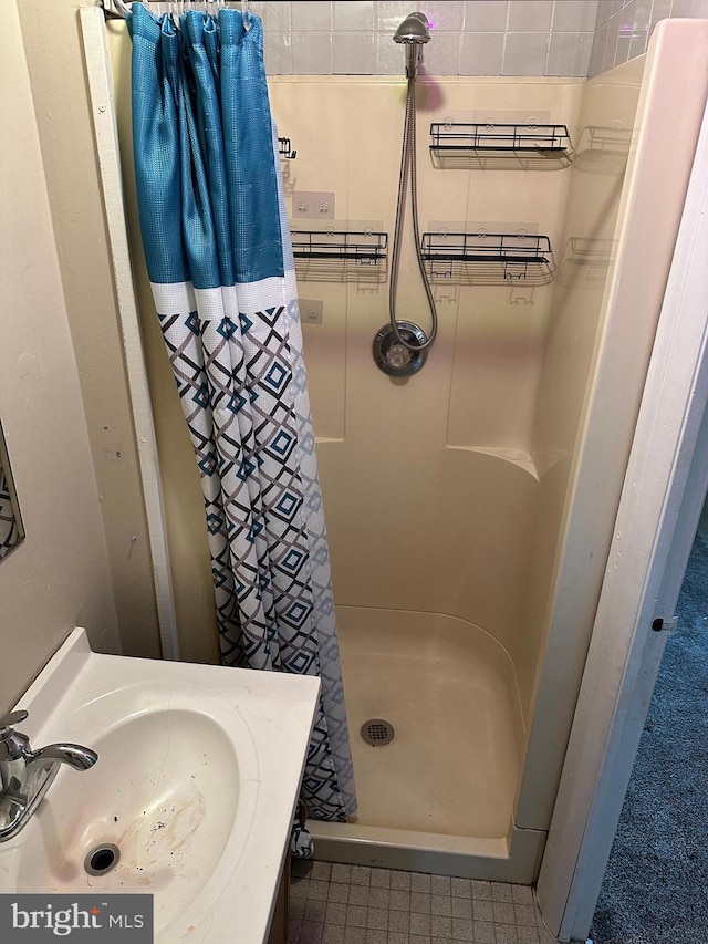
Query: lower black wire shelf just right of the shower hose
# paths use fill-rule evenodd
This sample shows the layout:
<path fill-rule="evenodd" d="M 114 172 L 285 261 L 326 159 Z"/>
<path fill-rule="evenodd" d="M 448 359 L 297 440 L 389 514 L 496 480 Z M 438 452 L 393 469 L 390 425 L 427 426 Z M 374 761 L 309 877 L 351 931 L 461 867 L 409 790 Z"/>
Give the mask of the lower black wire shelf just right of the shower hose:
<path fill-rule="evenodd" d="M 468 284 L 545 286 L 555 267 L 548 236 L 519 232 L 424 232 L 430 278 Z"/>

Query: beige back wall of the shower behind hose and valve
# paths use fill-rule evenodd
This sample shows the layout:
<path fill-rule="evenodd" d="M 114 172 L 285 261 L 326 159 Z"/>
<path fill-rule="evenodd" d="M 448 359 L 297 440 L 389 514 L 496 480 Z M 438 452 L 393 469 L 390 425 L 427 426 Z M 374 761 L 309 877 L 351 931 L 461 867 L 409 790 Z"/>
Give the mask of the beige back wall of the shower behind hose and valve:
<path fill-rule="evenodd" d="M 481 172 L 430 160 L 428 125 L 548 114 L 573 128 L 583 85 L 552 79 L 424 80 L 418 90 L 421 231 L 516 221 L 561 241 L 569 175 L 519 166 Z M 272 79 L 279 131 L 298 158 L 289 190 L 333 190 L 336 218 L 394 229 L 404 83 L 385 79 Z M 525 111 L 524 111 L 525 110 Z M 375 134 L 372 121 L 375 116 Z M 502 121 L 503 118 L 499 118 Z M 511 167 L 513 166 L 513 169 Z M 293 224 L 294 225 L 294 224 Z M 308 220 L 298 220 L 305 229 Z M 336 221 L 335 221 L 336 225 Z M 316 227 L 316 221 L 312 224 Z M 398 317 L 429 324 L 407 228 Z M 554 286 L 437 282 L 440 328 L 428 362 L 407 382 L 374 364 L 388 319 L 388 282 L 325 281 L 298 266 L 300 294 L 323 302 L 304 324 L 335 599 L 347 606 L 447 613 L 508 650 L 530 703 L 523 592 L 539 491 L 533 414 Z"/>

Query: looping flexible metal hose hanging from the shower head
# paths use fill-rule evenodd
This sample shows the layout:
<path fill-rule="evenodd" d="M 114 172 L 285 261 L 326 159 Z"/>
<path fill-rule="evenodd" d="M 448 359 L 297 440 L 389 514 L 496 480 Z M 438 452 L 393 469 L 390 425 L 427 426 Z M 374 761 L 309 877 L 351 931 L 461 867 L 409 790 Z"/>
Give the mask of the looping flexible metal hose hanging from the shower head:
<path fill-rule="evenodd" d="M 406 52 L 408 51 L 409 55 L 406 56 L 408 90 L 406 93 L 406 116 L 403 125 L 400 175 L 398 177 L 398 199 L 396 203 L 396 227 L 394 230 L 394 246 L 391 263 L 391 282 L 388 286 L 388 311 L 391 315 L 391 326 L 400 344 L 407 347 L 408 351 L 425 351 L 426 347 L 429 347 L 433 344 L 438 333 L 438 313 L 435 305 L 435 299 L 433 298 L 430 282 L 428 281 L 428 277 L 425 271 L 425 262 L 423 260 L 423 252 L 420 250 L 420 232 L 418 227 L 418 184 L 416 176 L 416 72 L 419 51 L 418 46 L 408 46 L 408 50 L 406 50 Z M 400 256 L 400 236 L 403 230 L 403 211 L 406 199 L 406 181 L 408 178 L 408 168 L 410 168 L 410 208 L 413 216 L 413 235 L 416 243 L 416 258 L 418 260 L 418 269 L 420 270 L 420 277 L 425 287 L 425 293 L 428 299 L 428 307 L 430 309 L 431 317 L 430 334 L 428 336 L 428 340 L 424 341 L 421 344 L 412 344 L 410 341 L 406 341 L 406 339 L 400 335 L 400 332 L 398 331 L 398 325 L 396 323 L 396 288 L 398 283 L 398 259 Z"/>

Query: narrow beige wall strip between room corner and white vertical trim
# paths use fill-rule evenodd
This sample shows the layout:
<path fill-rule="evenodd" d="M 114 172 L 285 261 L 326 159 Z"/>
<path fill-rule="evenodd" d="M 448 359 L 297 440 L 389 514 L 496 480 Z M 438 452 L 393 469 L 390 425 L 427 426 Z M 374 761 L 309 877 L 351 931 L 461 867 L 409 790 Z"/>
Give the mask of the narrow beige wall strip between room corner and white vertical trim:
<path fill-rule="evenodd" d="M 159 656 L 155 592 L 79 8 L 19 0 L 66 314 L 126 654 Z"/>

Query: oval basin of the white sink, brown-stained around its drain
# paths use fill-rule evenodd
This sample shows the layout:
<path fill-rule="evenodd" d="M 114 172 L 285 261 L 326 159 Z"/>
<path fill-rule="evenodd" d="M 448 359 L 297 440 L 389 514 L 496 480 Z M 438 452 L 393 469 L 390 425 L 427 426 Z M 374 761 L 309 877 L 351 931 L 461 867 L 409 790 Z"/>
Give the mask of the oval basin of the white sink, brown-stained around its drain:
<path fill-rule="evenodd" d="M 44 798 L 40 828 L 21 843 L 17 891 L 160 891 L 160 909 L 174 916 L 214 872 L 233 830 L 233 746 L 208 716 L 171 706 L 131 717 L 92 745 L 101 763 L 81 781 L 63 771 Z M 239 755 L 252 776 L 248 740 Z M 248 799 L 244 820 L 253 815 Z M 114 868 L 115 852 L 100 854 L 110 847 L 119 854 Z M 100 868 L 88 862 L 86 871 L 92 852 Z"/>

